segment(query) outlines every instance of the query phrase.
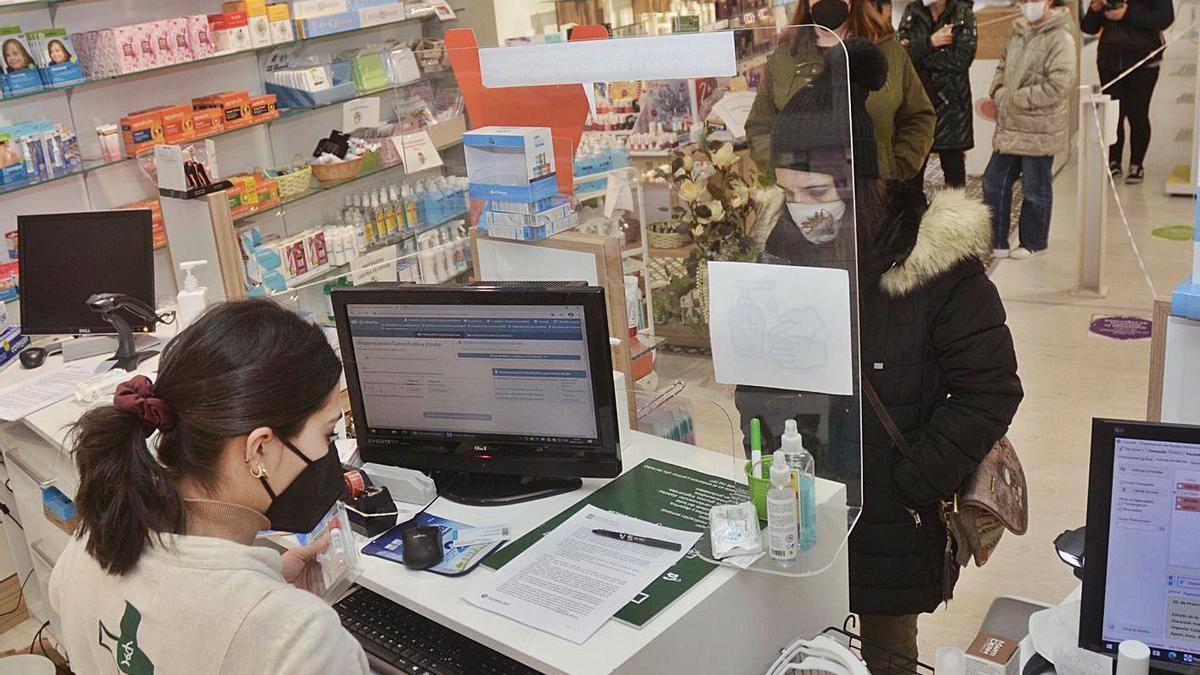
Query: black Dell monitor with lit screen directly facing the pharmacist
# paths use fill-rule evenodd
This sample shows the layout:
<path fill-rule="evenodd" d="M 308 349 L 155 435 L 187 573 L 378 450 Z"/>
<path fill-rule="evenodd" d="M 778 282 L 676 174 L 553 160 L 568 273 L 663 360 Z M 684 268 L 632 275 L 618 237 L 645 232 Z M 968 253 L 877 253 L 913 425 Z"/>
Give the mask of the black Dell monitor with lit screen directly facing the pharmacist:
<path fill-rule="evenodd" d="M 442 472 L 443 496 L 514 503 L 620 473 L 604 289 L 332 293 L 364 461 Z"/>

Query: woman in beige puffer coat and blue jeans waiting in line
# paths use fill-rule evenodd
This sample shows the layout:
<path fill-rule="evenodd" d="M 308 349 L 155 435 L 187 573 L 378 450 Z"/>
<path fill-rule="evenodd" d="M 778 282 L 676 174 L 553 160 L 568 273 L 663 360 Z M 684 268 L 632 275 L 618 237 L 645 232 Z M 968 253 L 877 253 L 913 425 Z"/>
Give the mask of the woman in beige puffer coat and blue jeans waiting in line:
<path fill-rule="evenodd" d="M 1024 0 L 1024 17 L 1000 56 L 991 100 L 983 113 L 996 119 L 994 153 L 983 174 L 983 198 L 991 208 L 992 253 L 1031 258 L 1049 246 L 1054 204 L 1054 156 L 1067 150 L 1068 100 L 1075 84 L 1075 44 L 1067 29 L 1070 12 L 1050 0 Z M 1021 179 L 1020 247 L 1009 253 L 1013 185 Z"/>

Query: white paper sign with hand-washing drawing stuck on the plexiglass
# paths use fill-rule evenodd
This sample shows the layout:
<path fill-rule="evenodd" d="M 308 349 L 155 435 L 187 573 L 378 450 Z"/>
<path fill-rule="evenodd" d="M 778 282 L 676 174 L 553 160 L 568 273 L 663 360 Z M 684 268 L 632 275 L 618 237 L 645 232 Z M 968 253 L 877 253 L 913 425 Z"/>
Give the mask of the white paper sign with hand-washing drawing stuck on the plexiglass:
<path fill-rule="evenodd" d="M 844 269 L 708 263 L 716 381 L 850 395 L 850 274 Z"/>

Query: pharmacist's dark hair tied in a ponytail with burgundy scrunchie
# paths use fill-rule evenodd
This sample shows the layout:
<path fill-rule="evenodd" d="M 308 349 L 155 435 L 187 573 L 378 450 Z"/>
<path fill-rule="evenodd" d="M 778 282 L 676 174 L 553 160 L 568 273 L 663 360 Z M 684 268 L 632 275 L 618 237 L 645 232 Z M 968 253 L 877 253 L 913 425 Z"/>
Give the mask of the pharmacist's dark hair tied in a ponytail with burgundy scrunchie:
<path fill-rule="evenodd" d="M 112 406 L 74 426 L 78 533 L 88 554 L 106 572 L 125 574 L 158 536 L 186 532 L 180 482 L 218 492 L 230 438 L 262 426 L 294 437 L 341 371 L 320 327 L 275 303 L 205 312 L 163 350 L 152 384 L 131 380 Z"/>

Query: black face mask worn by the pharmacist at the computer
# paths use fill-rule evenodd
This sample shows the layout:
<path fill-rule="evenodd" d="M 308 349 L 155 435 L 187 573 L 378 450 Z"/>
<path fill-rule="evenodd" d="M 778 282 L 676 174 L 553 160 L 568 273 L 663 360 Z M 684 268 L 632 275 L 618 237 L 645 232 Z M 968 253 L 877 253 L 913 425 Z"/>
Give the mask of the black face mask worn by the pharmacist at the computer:
<path fill-rule="evenodd" d="M 342 482 L 342 462 L 337 459 L 337 446 L 330 442 L 325 456 L 313 461 L 292 443 L 283 441 L 283 444 L 308 466 L 278 495 L 271 490 L 265 476 L 259 478 L 263 482 L 263 488 L 266 488 L 266 494 L 271 496 L 271 506 L 266 508 L 266 518 L 271 521 L 272 530 L 296 533 L 312 532 L 320 522 L 320 518 L 329 512 L 337 497 L 341 497 L 342 491 L 346 490 Z"/>

